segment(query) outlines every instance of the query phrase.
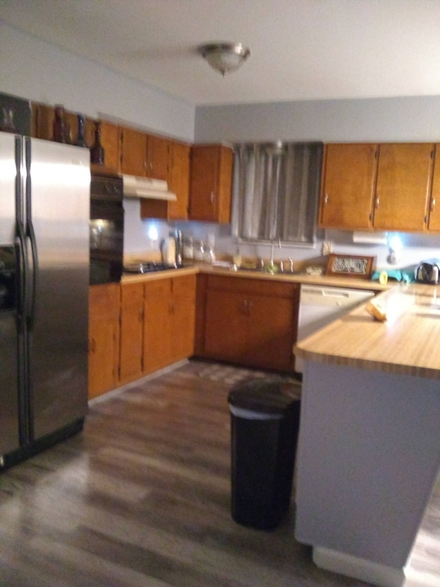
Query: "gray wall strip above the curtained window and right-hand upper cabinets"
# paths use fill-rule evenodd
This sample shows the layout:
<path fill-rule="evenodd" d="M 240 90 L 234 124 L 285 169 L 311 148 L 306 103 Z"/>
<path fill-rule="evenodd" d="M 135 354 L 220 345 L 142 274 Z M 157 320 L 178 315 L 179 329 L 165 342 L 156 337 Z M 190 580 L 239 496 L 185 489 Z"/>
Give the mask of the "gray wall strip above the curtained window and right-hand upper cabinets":
<path fill-rule="evenodd" d="M 199 106 L 196 142 L 440 141 L 440 96 Z"/>

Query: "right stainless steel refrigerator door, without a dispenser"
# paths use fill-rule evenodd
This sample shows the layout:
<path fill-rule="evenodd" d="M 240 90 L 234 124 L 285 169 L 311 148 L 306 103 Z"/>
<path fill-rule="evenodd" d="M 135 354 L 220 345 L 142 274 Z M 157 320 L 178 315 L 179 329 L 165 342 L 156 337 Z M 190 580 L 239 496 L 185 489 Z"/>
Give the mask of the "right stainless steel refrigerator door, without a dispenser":
<path fill-rule="evenodd" d="M 87 411 L 90 166 L 87 149 L 26 141 L 35 278 L 28 319 L 30 409 L 38 440 Z"/>

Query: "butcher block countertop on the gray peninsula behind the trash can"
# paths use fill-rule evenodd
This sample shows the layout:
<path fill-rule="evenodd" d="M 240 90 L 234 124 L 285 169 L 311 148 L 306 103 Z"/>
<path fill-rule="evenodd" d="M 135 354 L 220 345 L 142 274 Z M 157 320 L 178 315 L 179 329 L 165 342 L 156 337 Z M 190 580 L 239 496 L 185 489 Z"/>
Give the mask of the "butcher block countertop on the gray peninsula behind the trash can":
<path fill-rule="evenodd" d="M 375 297 L 387 320 L 366 304 L 298 341 L 305 361 L 440 378 L 440 286 L 398 284 Z"/>

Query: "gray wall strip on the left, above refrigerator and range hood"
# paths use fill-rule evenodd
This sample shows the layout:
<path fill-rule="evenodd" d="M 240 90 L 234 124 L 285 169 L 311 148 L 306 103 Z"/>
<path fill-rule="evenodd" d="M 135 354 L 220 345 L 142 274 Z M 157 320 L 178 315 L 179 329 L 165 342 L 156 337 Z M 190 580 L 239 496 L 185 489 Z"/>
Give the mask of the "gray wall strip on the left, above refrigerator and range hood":
<path fill-rule="evenodd" d="M 0 92 L 114 117 L 192 141 L 194 105 L 44 43 L 0 21 Z"/>

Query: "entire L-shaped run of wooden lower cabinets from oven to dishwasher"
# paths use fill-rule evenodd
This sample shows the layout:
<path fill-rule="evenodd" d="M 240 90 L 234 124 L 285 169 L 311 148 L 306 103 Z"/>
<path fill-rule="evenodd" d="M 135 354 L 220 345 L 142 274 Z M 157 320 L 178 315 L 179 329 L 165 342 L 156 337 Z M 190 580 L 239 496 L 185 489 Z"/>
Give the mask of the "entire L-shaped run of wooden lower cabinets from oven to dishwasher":
<path fill-rule="evenodd" d="M 298 304 L 298 284 L 268 279 L 176 275 L 91 286 L 89 398 L 194 354 L 292 371 Z"/>

